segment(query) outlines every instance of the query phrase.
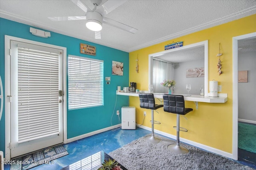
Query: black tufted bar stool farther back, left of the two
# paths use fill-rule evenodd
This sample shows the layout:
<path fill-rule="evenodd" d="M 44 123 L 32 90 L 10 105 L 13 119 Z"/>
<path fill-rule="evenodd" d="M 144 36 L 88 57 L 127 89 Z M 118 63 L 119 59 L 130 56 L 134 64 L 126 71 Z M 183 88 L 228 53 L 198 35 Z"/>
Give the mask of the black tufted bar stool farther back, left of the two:
<path fill-rule="evenodd" d="M 154 120 L 154 110 L 163 107 L 162 104 L 155 104 L 154 94 L 144 94 L 140 93 L 140 107 L 145 109 L 151 109 L 151 126 L 152 126 L 152 136 L 145 138 L 146 141 L 150 143 L 159 143 L 160 138 L 154 136 L 154 124 L 161 124 L 159 121 Z"/>

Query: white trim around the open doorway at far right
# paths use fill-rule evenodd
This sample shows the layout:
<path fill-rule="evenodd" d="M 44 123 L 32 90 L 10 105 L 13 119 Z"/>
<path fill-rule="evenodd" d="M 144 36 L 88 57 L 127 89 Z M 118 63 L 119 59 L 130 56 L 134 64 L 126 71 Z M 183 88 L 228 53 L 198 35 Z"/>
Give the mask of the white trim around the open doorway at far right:
<path fill-rule="evenodd" d="M 233 134 L 232 159 L 238 160 L 238 40 L 256 37 L 256 32 L 233 37 Z"/>

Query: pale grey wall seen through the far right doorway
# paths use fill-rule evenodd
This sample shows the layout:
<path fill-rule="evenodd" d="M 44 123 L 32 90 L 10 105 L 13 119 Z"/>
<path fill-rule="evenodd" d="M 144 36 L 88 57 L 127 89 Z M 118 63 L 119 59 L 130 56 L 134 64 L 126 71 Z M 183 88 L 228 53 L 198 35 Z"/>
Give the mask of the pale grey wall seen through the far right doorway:
<path fill-rule="evenodd" d="M 256 121 L 256 52 L 238 54 L 238 70 L 248 70 L 248 83 L 238 83 L 238 119 Z"/>

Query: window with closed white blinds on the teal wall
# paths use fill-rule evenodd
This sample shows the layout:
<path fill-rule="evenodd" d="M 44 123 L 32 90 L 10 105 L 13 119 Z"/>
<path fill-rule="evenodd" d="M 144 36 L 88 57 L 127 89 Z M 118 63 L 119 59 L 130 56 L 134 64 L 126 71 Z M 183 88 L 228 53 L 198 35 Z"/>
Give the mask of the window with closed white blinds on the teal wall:
<path fill-rule="evenodd" d="M 68 56 L 68 109 L 104 105 L 101 60 Z"/>

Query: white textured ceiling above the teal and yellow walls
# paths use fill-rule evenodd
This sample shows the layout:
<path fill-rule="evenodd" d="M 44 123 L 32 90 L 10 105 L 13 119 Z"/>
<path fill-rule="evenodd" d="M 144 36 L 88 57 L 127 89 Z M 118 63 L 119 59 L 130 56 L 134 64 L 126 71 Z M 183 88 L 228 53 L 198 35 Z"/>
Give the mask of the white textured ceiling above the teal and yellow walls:
<path fill-rule="evenodd" d="M 82 2 L 93 8 L 89 0 Z M 106 17 L 134 27 L 138 32 L 132 34 L 103 24 L 101 39 L 94 39 L 94 32 L 85 27 L 85 20 L 48 19 L 54 16 L 85 16 L 70 0 L 0 0 L 1 18 L 126 52 L 252 14 L 256 14 L 256 0 L 128 0 Z"/>

